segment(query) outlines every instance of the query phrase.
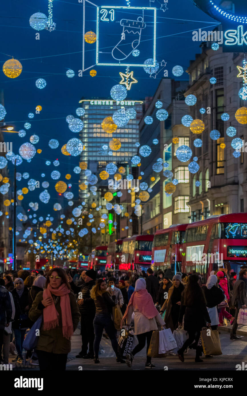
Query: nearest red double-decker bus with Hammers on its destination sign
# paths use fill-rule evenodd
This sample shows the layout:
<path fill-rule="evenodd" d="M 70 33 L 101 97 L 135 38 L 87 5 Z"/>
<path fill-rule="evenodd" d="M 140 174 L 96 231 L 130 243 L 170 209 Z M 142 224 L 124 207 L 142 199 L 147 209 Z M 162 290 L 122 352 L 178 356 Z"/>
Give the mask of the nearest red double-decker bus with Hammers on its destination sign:
<path fill-rule="evenodd" d="M 212 270 L 239 273 L 247 263 L 247 213 L 211 216 L 190 223 L 182 246 L 182 272 L 195 270 L 204 276 Z"/>

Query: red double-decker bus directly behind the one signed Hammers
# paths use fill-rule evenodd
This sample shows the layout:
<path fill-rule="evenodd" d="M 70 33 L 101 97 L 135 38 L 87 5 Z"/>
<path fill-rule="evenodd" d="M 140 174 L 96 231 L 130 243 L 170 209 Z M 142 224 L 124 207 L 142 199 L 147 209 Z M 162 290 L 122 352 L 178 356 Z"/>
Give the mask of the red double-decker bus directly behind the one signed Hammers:
<path fill-rule="evenodd" d="M 157 230 L 153 238 L 152 269 L 168 270 L 168 276 L 181 271 L 182 241 L 188 224 L 171 225 L 164 230 Z"/>

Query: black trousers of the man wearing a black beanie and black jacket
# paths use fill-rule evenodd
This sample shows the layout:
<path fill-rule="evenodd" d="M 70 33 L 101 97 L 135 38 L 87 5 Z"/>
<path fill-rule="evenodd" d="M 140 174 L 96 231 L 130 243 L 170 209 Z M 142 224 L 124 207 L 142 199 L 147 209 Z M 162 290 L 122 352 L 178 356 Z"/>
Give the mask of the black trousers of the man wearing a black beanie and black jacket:
<path fill-rule="evenodd" d="M 82 336 L 82 350 L 80 354 L 85 356 L 88 353 L 94 354 L 94 316 L 95 312 L 90 314 L 81 313 L 80 316 L 80 334 Z"/>

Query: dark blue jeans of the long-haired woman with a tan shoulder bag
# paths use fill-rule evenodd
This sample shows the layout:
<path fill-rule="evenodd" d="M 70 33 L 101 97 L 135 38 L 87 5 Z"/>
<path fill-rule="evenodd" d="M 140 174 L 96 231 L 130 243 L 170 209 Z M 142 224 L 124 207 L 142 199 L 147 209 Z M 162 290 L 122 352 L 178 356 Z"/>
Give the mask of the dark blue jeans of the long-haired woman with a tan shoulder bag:
<path fill-rule="evenodd" d="M 111 319 L 110 315 L 107 314 L 96 314 L 94 318 L 94 356 L 95 358 L 99 357 L 99 350 L 100 350 L 100 341 L 103 334 L 103 329 L 108 334 L 109 339 L 111 340 L 111 346 L 116 355 L 117 352 L 117 338 L 116 338 L 116 331 Z"/>

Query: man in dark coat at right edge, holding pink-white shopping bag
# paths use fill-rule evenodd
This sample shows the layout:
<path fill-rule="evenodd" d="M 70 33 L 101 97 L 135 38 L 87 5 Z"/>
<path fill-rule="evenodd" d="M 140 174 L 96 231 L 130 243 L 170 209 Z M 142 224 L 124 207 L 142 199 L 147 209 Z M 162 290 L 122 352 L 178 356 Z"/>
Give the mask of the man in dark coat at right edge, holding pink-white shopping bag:
<path fill-rule="evenodd" d="M 237 315 L 240 308 L 247 308 L 247 268 L 243 268 L 239 271 L 239 278 L 234 283 L 232 293 L 232 305 L 235 305 L 236 313 L 230 339 L 240 340 L 240 337 L 237 337 Z"/>

